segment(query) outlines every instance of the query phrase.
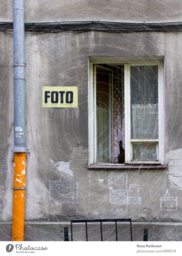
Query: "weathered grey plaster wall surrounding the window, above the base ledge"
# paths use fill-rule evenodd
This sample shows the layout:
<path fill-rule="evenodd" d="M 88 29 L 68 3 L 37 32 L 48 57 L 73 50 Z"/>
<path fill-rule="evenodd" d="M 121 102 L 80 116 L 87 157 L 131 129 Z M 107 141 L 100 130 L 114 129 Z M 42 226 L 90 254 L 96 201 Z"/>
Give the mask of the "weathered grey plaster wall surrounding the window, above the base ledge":
<path fill-rule="evenodd" d="M 180 20 L 177 2 L 25 1 L 26 20 L 106 19 Z M 11 1 L 2 21 L 11 20 Z M 78 11 L 80 10 L 80 11 Z M 6 13 L 6 15 L 4 14 Z M 162 13 L 162 14 L 161 14 Z M 122 14 L 122 15 L 121 15 Z M 122 18 L 121 18 L 122 17 Z M 26 206 L 25 220 L 132 218 L 135 221 L 182 220 L 181 61 L 182 33 L 46 33 L 26 34 Z M 107 47 L 106 44 L 112 45 Z M 13 49 L 12 35 L 0 33 L 0 220 L 11 221 L 13 177 Z M 103 44 L 103 46 L 93 46 Z M 121 49 L 113 47 L 120 46 Z M 93 55 L 164 56 L 165 163 L 162 170 L 88 170 L 88 58 Z M 43 109 L 42 86 L 77 86 L 77 109 Z M 139 185 L 136 204 L 116 203 L 109 176 L 119 173 Z M 72 199 L 62 197 L 70 186 Z M 160 208 L 166 190 L 177 210 Z M 176 198 L 177 197 L 177 198 Z"/>

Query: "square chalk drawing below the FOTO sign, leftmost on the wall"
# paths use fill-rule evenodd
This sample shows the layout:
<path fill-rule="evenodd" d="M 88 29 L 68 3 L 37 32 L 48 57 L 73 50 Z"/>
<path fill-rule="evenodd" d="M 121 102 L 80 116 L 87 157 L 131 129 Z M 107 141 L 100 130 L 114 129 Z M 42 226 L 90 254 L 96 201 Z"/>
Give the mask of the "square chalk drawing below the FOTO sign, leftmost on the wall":
<path fill-rule="evenodd" d="M 60 180 L 49 180 L 49 198 L 54 204 L 78 204 L 78 181 L 61 175 Z"/>

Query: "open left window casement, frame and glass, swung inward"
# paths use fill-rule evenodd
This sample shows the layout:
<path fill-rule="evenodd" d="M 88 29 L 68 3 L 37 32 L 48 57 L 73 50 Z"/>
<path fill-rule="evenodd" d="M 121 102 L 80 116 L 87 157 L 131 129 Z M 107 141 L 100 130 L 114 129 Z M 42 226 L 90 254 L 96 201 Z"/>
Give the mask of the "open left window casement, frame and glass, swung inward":
<path fill-rule="evenodd" d="M 94 66 L 95 162 L 113 162 L 113 71 Z"/>

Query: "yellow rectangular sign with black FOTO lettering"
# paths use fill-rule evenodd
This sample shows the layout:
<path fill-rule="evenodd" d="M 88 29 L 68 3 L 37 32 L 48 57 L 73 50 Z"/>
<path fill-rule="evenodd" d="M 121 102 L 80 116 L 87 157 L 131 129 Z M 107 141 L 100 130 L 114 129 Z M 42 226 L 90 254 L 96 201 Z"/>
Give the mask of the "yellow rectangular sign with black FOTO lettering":
<path fill-rule="evenodd" d="M 43 108 L 77 108 L 78 87 L 44 86 L 42 87 Z"/>

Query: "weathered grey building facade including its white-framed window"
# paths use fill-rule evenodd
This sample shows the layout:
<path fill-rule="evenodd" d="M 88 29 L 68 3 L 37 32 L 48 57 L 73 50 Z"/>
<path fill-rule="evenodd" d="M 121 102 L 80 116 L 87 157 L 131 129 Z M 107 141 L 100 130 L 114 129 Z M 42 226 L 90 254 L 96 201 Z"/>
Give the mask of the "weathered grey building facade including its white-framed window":
<path fill-rule="evenodd" d="M 60 223 L 92 218 L 131 218 L 134 240 L 142 240 L 144 226 L 150 234 L 180 236 L 180 25 L 174 23 L 175 31 L 79 33 L 55 31 L 59 23 L 49 21 L 180 21 L 181 8 L 172 1 L 25 1 L 25 22 L 48 26 L 45 33 L 25 34 L 26 240 L 44 240 L 45 232 L 47 240 L 62 240 L 55 235 Z M 12 22 L 11 1 L 2 5 L 0 20 Z M 12 32 L 0 33 L 5 241 L 13 200 Z M 77 87 L 78 106 L 42 107 L 42 87 Z"/>

